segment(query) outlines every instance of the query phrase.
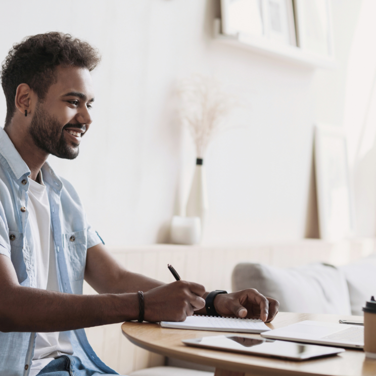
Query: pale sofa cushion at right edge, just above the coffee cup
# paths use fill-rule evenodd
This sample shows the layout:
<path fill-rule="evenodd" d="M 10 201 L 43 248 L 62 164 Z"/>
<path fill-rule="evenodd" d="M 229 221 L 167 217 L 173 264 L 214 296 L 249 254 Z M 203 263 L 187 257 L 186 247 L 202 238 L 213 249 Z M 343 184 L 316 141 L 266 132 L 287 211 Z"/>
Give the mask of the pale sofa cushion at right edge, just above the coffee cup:
<path fill-rule="evenodd" d="M 340 269 L 347 279 L 351 312 L 363 316 L 362 306 L 371 295 L 376 296 L 376 253 Z"/>

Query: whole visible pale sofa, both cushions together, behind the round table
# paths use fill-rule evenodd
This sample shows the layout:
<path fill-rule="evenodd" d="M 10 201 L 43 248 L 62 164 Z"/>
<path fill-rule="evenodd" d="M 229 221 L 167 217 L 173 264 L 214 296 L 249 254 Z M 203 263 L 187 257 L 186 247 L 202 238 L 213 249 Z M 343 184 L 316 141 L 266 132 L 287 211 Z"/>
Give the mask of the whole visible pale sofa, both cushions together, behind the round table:
<path fill-rule="evenodd" d="M 376 296 L 376 253 L 344 266 L 313 263 L 281 269 L 240 263 L 232 287 L 257 289 L 279 301 L 284 312 L 362 315 L 362 306 Z"/>

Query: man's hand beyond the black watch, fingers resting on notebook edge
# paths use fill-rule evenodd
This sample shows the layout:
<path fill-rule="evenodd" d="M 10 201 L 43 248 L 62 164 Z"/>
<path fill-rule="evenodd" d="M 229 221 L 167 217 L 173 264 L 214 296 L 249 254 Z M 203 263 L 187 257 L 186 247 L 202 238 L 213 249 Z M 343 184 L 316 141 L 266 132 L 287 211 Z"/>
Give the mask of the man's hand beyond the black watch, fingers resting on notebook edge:
<path fill-rule="evenodd" d="M 232 294 L 218 294 L 214 298 L 214 308 L 221 316 L 260 318 L 270 322 L 278 312 L 279 303 L 266 298 L 255 289 L 247 289 Z"/>

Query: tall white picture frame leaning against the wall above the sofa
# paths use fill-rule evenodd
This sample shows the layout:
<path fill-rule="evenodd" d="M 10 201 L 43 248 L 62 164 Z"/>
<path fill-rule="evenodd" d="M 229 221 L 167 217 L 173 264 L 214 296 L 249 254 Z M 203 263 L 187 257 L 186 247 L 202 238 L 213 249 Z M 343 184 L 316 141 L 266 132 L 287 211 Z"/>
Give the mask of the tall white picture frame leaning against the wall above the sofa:
<path fill-rule="evenodd" d="M 355 233 L 355 221 L 345 132 L 317 124 L 314 153 L 320 238 L 350 238 Z"/>

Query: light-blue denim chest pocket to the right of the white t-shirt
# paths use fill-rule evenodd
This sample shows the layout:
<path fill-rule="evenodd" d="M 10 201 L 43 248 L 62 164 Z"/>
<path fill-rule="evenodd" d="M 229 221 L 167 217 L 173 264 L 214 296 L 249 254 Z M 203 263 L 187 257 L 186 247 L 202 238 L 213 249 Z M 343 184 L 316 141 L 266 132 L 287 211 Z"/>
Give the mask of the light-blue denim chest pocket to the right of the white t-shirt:
<path fill-rule="evenodd" d="M 86 265 L 87 235 L 86 230 L 63 234 L 64 249 L 70 258 L 74 280 L 83 279 Z"/>

